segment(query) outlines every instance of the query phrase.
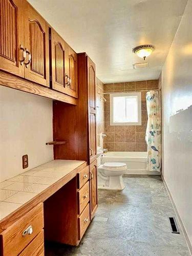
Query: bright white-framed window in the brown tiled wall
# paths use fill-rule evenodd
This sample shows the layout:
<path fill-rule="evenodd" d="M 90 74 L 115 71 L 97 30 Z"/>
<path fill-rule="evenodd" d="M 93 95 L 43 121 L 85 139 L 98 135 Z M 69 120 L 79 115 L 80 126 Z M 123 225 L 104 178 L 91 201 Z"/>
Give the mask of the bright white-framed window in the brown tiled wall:
<path fill-rule="evenodd" d="M 141 93 L 110 94 L 111 125 L 141 125 Z"/>

